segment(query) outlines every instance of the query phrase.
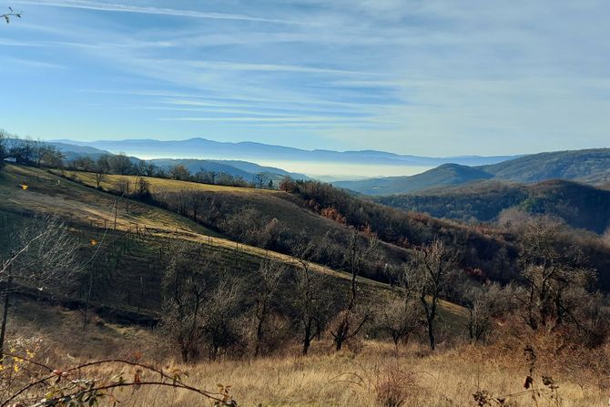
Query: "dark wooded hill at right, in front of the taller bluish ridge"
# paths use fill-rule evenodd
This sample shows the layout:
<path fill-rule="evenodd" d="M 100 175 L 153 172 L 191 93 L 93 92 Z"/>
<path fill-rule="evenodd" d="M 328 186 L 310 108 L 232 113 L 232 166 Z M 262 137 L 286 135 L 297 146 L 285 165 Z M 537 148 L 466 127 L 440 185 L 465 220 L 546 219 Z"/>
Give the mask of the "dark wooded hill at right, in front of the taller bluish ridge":
<path fill-rule="evenodd" d="M 517 208 L 553 215 L 573 228 L 595 233 L 610 227 L 610 191 L 573 181 L 551 180 L 534 185 L 483 181 L 373 200 L 435 218 L 493 221 L 503 209 Z"/>

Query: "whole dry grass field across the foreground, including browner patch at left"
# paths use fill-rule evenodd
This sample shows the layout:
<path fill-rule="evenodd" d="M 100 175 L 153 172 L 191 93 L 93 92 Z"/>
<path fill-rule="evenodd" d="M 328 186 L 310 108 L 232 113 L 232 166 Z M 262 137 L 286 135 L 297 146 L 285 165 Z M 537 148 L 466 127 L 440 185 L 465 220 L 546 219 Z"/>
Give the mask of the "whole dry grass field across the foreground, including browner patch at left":
<path fill-rule="evenodd" d="M 19 305 L 19 315 L 9 330 L 15 335 L 11 342 L 36 348 L 36 360 L 46 361 L 54 369 L 104 358 L 133 361 L 132 355 L 141 353 L 141 362 L 163 371 L 180 371 L 180 380 L 198 389 L 217 392 L 218 384 L 230 386 L 229 393 L 239 406 L 601 407 L 607 402 L 607 377 L 599 377 L 603 367 L 593 362 L 607 357 L 607 350 L 555 355 L 552 341 L 544 337 L 529 338 L 540 351 L 533 374 L 537 392 L 526 392 L 524 380 L 530 364 L 519 341 L 500 341 L 493 346 L 442 344 L 434 352 L 415 341 L 398 350 L 387 342 L 360 341 L 335 353 L 330 338 L 322 337 L 308 357 L 298 356 L 294 346 L 266 358 L 183 365 L 175 361 L 171 350 L 155 341 L 154 332 L 99 319 L 83 331 L 74 311 L 49 308 L 44 314 L 34 312 L 37 317 L 29 320 L 26 314 L 36 305 L 26 301 Z M 121 373 L 131 378 L 135 371 L 109 364 L 86 374 L 109 377 Z M 543 376 L 552 377 L 557 388 L 552 391 L 545 386 Z M 154 378 L 146 371 L 141 376 L 144 382 Z M 479 391 L 504 398 L 505 403 L 478 404 L 473 394 Z M 112 394 L 123 406 L 212 405 L 198 394 L 171 387 L 129 387 Z"/>

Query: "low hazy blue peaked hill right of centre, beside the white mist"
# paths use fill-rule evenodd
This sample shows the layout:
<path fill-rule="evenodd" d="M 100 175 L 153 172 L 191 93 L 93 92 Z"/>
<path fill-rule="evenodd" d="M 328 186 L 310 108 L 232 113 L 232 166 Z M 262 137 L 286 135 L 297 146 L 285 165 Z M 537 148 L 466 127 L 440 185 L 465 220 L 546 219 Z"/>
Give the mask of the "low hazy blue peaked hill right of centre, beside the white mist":
<path fill-rule="evenodd" d="M 391 195 L 423 190 L 427 188 L 450 187 L 480 179 L 493 178 L 479 168 L 458 164 L 443 164 L 422 174 L 411 177 L 372 178 L 361 181 L 339 181 L 333 185 L 351 189 L 366 195 Z"/>

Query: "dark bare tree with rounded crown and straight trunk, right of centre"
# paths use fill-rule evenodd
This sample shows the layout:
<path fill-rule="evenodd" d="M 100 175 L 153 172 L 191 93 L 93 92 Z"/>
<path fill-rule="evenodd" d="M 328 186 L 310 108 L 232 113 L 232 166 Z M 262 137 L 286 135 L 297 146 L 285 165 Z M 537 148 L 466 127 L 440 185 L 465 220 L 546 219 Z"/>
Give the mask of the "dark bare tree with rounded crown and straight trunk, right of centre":
<path fill-rule="evenodd" d="M 436 346 L 434 328 L 438 303 L 459 259 L 458 250 L 450 248 L 441 239 L 434 239 L 430 245 L 413 253 L 412 261 L 406 265 L 402 276 L 403 286 L 422 304 L 432 350 Z"/>

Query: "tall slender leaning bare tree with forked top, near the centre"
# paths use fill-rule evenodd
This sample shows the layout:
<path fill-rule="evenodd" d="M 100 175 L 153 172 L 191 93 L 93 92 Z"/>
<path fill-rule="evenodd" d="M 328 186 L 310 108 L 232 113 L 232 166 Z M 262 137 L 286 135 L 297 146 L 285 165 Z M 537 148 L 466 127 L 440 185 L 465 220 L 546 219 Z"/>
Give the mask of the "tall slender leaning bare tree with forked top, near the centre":
<path fill-rule="evenodd" d="M 360 293 L 358 287 L 358 276 L 361 273 L 362 264 L 365 259 L 371 259 L 379 244 L 379 239 L 371 235 L 367 237 L 366 247 L 361 249 L 359 245 L 360 234 L 357 230 L 353 230 L 350 235 L 348 251 L 345 256 L 351 273 L 351 290 L 348 295 L 347 305 L 344 310 L 341 310 L 335 326 L 330 330 L 335 349 L 341 351 L 343 343 L 358 335 L 369 319 L 369 313 L 366 310 L 358 308 L 357 299 Z"/>

